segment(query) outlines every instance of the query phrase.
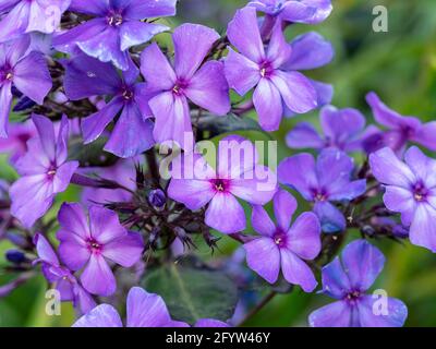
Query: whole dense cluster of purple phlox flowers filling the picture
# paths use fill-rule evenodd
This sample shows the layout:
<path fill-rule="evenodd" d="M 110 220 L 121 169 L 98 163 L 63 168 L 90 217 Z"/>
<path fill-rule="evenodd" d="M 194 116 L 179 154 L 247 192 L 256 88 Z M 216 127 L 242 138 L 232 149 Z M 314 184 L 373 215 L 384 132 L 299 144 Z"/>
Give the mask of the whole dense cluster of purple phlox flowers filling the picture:
<path fill-rule="evenodd" d="M 332 86 L 301 73 L 328 64 L 334 48 L 314 32 L 287 34 L 325 21 L 330 0 L 249 1 L 222 35 L 171 28 L 175 10 L 177 0 L 0 4 L 0 151 L 19 176 L 0 182 L 0 240 L 15 245 L 8 270 L 19 274 L 0 297 L 40 267 L 77 327 L 230 326 L 243 323 L 253 284 L 272 298 L 313 292 L 320 279 L 337 301 L 311 326 L 402 326 L 401 301 L 386 298 L 378 314 L 366 293 L 385 264 L 368 240 L 410 238 L 436 252 L 436 160 L 408 148 L 435 151 L 436 121 L 370 93 L 379 127 L 366 125 L 359 110 L 330 105 Z M 272 132 L 317 109 L 322 131 L 290 130 L 288 146 L 306 153 L 277 171 L 257 144 L 223 136 L 253 116 Z M 363 239 L 339 260 L 355 230 Z M 194 253 L 219 239 L 244 257 L 208 264 Z M 189 309 L 175 294 L 183 282 Z M 192 312 L 198 302 L 208 306 Z"/>

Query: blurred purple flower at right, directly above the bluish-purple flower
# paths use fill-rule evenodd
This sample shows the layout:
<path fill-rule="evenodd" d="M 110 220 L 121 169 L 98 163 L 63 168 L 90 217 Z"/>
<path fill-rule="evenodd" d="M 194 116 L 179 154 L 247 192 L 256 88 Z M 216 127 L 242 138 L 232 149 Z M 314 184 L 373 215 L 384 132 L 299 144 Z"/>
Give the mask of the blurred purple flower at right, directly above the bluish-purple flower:
<path fill-rule="evenodd" d="M 300 122 L 287 135 L 290 148 L 323 149 L 334 147 L 343 152 L 362 151 L 367 137 L 378 133 L 375 127 L 365 130 L 365 117 L 356 109 L 337 109 L 326 106 L 320 110 L 319 134 L 308 122 Z"/>

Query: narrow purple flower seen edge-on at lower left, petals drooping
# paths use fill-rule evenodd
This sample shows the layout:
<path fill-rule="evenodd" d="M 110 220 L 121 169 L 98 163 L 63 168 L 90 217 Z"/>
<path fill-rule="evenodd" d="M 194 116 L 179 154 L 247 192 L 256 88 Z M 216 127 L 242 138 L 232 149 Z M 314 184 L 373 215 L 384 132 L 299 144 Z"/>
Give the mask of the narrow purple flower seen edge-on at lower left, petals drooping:
<path fill-rule="evenodd" d="M 74 308 L 78 308 L 83 314 L 96 306 L 93 297 L 78 284 L 68 268 L 61 266 L 48 240 L 43 234 L 37 233 L 34 237 L 34 243 L 38 254 L 38 260 L 34 263 L 41 264 L 44 277 L 50 284 L 56 285 L 56 289 L 61 294 L 61 300 L 73 302 Z"/>

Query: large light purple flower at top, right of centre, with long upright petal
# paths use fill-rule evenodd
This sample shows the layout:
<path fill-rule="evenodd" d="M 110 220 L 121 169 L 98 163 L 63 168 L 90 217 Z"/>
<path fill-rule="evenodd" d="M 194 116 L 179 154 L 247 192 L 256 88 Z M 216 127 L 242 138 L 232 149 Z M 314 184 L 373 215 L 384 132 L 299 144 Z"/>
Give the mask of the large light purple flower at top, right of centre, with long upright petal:
<path fill-rule="evenodd" d="M 292 47 L 286 43 L 280 24 L 274 27 L 266 51 L 254 8 L 239 10 L 227 34 L 240 53 L 229 48 L 225 60 L 226 77 L 241 96 L 256 87 L 253 104 L 265 131 L 278 130 L 283 104 L 295 113 L 317 106 L 316 89 L 311 81 L 299 72 L 281 68 L 290 60 Z"/>

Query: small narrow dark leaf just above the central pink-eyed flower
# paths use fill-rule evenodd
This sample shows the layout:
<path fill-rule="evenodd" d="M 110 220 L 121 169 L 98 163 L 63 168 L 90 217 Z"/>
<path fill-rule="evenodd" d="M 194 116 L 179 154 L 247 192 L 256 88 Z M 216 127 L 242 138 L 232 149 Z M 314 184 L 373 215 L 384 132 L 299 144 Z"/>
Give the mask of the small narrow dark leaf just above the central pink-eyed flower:
<path fill-rule="evenodd" d="M 198 120 L 198 131 L 203 133 L 207 132 L 208 139 L 235 131 L 258 131 L 265 133 L 256 120 L 249 117 L 240 118 L 234 113 L 229 113 L 226 117 L 203 116 Z"/>

